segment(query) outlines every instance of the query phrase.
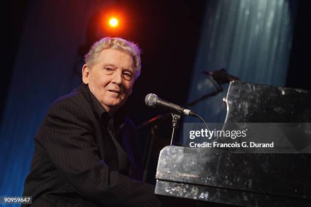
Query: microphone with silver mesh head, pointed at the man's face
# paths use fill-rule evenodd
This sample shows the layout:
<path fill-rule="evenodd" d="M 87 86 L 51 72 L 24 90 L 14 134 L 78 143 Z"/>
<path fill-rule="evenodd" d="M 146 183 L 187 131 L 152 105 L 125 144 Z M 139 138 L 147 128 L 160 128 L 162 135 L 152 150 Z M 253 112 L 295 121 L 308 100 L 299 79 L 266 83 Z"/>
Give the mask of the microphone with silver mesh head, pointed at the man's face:
<path fill-rule="evenodd" d="M 169 101 L 159 98 L 154 93 L 149 93 L 148 95 L 146 95 L 145 103 L 148 107 L 152 107 L 152 108 L 159 107 L 162 109 L 170 110 L 172 113 L 175 113 L 175 114 L 184 114 L 184 115 L 193 116 L 193 117 L 199 116 L 195 112 L 189 109 L 185 109 L 174 103 L 171 103 Z"/>

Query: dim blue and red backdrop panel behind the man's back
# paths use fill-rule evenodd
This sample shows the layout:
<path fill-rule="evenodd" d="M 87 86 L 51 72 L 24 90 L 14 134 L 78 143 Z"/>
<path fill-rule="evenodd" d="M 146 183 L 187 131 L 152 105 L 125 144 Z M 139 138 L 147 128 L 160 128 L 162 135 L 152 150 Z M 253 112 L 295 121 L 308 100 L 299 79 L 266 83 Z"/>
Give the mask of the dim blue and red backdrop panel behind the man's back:
<path fill-rule="evenodd" d="M 79 47 L 86 42 L 88 21 L 103 2 L 28 2 L 0 129 L 0 196 L 21 195 L 34 135 L 49 105 L 81 82 Z"/>

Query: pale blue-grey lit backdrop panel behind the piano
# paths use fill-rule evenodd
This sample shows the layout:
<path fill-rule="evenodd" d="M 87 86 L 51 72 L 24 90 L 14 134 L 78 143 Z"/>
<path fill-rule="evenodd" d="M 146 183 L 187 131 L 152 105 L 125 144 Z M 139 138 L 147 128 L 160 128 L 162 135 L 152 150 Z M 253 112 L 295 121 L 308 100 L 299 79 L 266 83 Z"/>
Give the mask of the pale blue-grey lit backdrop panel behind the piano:
<path fill-rule="evenodd" d="M 200 70 L 226 68 L 243 82 L 284 86 L 296 7 L 289 0 L 208 1 L 188 101 L 215 90 Z M 224 122 L 227 88 L 191 109 L 207 122 Z"/>

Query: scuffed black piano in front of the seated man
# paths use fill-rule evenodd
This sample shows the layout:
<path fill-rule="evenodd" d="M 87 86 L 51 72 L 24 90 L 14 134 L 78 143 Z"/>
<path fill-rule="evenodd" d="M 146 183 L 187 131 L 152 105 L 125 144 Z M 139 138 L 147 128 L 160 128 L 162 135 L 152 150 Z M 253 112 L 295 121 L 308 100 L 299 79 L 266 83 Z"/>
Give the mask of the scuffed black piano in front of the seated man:
<path fill-rule="evenodd" d="M 155 194 L 166 206 L 311 206 L 311 92 L 231 82 L 229 123 L 306 123 L 294 153 L 232 153 L 167 146 L 160 152 Z M 300 150 L 300 151 L 299 151 Z"/>

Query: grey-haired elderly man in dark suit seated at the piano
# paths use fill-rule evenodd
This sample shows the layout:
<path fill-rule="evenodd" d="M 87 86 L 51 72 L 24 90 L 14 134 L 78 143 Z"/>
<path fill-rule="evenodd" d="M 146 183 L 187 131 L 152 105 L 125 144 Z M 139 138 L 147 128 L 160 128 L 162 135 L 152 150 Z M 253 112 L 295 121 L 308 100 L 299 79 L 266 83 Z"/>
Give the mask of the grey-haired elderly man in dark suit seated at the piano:
<path fill-rule="evenodd" d="M 24 196 L 31 206 L 159 206 L 142 183 L 137 130 L 125 102 L 140 74 L 140 50 L 103 38 L 85 56 L 83 83 L 54 101 L 35 136 Z"/>

